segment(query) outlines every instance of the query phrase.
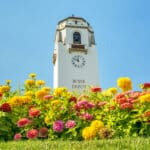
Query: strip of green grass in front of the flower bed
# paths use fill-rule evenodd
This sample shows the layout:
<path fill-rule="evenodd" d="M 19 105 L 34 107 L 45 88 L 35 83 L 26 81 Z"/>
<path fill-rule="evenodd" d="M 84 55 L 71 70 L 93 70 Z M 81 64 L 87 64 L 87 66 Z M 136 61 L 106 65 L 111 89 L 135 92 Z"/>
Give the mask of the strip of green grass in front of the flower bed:
<path fill-rule="evenodd" d="M 150 138 L 120 138 L 96 141 L 28 140 L 1 142 L 0 150 L 149 150 Z"/>

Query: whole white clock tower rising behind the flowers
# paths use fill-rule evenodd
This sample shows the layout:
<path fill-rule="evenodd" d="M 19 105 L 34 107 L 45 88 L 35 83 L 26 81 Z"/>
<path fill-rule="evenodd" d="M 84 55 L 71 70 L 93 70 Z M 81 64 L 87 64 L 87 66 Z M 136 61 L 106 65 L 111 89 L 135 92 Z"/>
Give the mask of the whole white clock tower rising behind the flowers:
<path fill-rule="evenodd" d="M 58 22 L 53 64 L 54 88 L 82 91 L 89 85 L 99 86 L 94 32 L 85 19 L 72 16 Z"/>

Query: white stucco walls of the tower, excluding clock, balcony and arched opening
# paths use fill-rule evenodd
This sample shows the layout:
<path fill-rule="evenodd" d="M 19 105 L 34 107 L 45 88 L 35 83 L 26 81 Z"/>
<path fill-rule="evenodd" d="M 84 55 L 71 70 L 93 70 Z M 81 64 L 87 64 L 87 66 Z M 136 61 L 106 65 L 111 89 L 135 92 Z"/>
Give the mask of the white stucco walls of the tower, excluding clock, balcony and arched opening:
<path fill-rule="evenodd" d="M 71 20 L 69 23 L 71 24 Z M 87 26 L 85 22 L 82 24 Z M 98 86 L 100 84 L 98 54 L 95 45 L 89 47 L 89 30 L 87 28 L 66 27 L 61 32 L 63 42 L 55 42 L 57 59 L 54 65 L 54 88 L 67 87 L 70 90 L 82 90 L 87 85 Z M 81 34 L 81 44 L 88 49 L 87 54 L 83 52 L 69 53 L 74 32 Z M 71 59 L 75 55 L 84 57 L 86 62 L 82 68 L 73 66 Z"/>

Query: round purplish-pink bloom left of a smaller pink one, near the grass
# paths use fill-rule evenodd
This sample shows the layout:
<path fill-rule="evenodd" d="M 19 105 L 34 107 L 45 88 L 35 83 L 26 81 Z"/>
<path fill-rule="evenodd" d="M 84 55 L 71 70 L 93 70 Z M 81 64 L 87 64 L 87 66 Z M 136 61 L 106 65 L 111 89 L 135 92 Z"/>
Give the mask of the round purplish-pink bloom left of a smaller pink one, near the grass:
<path fill-rule="evenodd" d="M 64 123 L 61 120 L 57 120 L 53 123 L 53 130 L 55 132 L 62 132 L 64 129 Z"/>

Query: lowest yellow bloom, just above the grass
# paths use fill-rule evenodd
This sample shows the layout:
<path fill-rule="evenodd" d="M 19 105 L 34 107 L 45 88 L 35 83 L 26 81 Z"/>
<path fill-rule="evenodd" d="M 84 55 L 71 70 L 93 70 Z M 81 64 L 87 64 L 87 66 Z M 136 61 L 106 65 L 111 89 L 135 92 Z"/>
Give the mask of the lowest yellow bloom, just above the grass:
<path fill-rule="evenodd" d="M 82 130 L 82 137 L 83 137 L 85 140 L 91 140 L 91 139 L 93 139 L 95 136 L 96 136 L 96 132 L 95 132 L 95 129 L 94 129 L 93 127 L 85 127 L 85 128 Z"/>

